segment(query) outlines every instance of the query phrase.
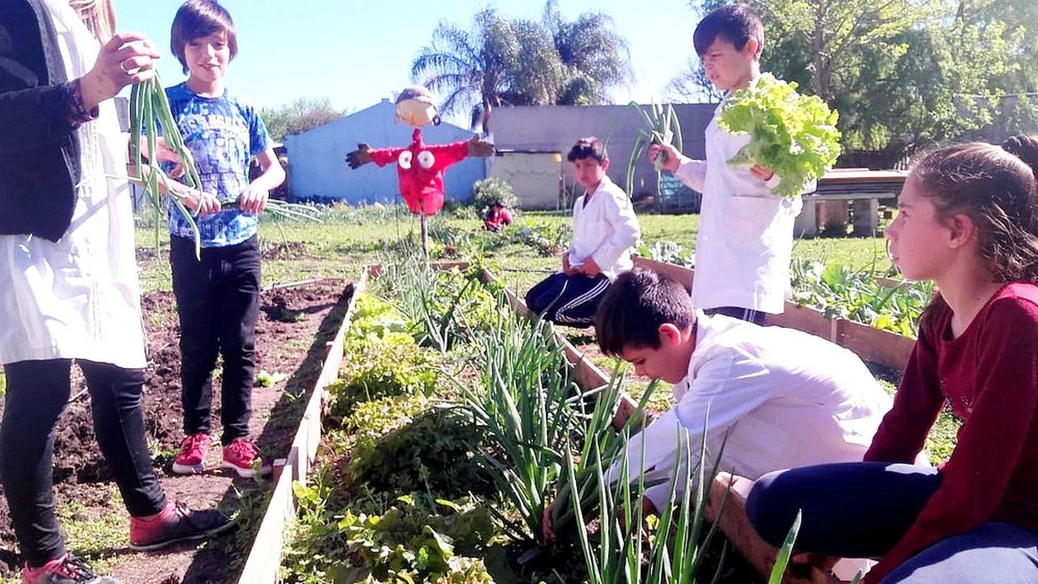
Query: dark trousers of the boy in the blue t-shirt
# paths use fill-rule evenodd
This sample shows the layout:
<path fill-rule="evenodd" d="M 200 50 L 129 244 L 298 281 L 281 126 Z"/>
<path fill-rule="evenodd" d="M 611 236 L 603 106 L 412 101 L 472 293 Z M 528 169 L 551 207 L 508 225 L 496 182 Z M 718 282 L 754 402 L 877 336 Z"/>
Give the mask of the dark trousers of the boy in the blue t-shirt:
<path fill-rule="evenodd" d="M 260 317 L 260 244 L 202 248 L 170 239 L 173 294 L 181 316 L 181 383 L 185 434 L 212 429 L 212 374 L 223 357 L 221 415 L 224 445 L 248 436 Z"/>

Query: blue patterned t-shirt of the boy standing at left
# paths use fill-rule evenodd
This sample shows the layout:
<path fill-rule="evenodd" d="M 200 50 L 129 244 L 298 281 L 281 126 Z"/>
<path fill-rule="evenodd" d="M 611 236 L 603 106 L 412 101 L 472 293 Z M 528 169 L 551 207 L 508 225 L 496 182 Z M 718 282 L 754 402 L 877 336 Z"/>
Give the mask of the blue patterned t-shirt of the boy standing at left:
<path fill-rule="evenodd" d="M 202 98 L 181 83 L 166 88 L 166 98 L 184 142 L 194 157 L 202 190 L 220 201 L 237 200 L 249 184 L 249 159 L 270 144 L 260 112 L 233 93 Z M 168 172 L 171 165 L 163 164 Z M 182 178 L 183 180 L 183 178 Z M 201 247 L 240 244 L 255 234 L 255 215 L 228 210 L 195 218 Z M 169 232 L 193 239 L 187 220 L 169 203 Z"/>

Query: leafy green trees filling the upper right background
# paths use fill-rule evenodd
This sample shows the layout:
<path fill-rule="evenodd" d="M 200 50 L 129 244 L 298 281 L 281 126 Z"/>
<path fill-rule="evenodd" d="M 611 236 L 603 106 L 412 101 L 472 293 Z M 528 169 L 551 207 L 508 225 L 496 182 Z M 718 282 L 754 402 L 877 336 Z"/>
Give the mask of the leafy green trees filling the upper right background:
<path fill-rule="evenodd" d="M 848 149 L 1001 139 L 1038 120 L 1033 0 L 750 4 L 764 21 L 762 69 L 839 110 Z"/>

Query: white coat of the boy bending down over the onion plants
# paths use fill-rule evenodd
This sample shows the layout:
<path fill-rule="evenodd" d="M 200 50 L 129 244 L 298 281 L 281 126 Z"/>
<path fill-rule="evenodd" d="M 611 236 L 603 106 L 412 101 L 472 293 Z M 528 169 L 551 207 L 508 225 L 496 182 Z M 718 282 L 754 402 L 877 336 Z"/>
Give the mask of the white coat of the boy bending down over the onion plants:
<path fill-rule="evenodd" d="M 718 453 L 718 470 L 752 479 L 774 470 L 857 462 L 892 405 L 847 349 L 794 329 L 702 311 L 688 374 L 674 394 L 677 406 L 628 443 L 632 481 L 643 445 L 647 479 L 670 479 L 679 460 L 679 427 L 688 432 L 692 468 L 706 429 L 708 473 Z M 925 456 L 920 460 L 926 464 Z M 610 470 L 610 480 L 618 471 L 619 465 Z M 664 482 L 647 492 L 657 509 L 668 489 Z"/>

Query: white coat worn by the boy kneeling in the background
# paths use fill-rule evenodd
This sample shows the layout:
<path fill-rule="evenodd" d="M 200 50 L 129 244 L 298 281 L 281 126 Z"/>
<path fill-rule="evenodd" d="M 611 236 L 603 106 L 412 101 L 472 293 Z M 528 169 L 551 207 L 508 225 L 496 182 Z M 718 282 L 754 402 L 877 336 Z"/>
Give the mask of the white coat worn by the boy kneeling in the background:
<path fill-rule="evenodd" d="M 591 257 L 611 280 L 634 266 L 630 248 L 641 237 L 641 227 L 631 199 L 608 176 L 602 177 L 584 206 L 586 198 L 583 195 L 573 203 L 570 266 L 575 268 Z"/>

